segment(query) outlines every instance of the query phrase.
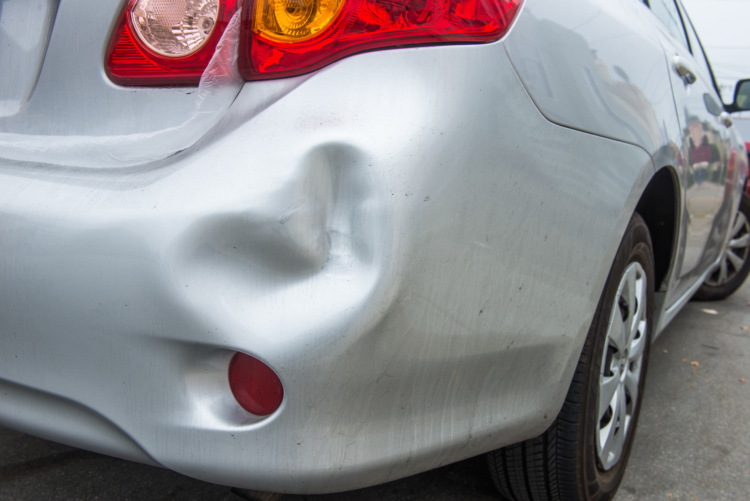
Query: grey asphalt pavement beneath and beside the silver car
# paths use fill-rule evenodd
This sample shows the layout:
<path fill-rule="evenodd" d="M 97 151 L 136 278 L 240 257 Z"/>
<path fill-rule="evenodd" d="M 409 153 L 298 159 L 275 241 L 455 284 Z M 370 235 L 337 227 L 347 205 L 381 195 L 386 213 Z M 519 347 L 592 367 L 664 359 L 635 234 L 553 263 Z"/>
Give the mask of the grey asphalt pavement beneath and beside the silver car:
<path fill-rule="evenodd" d="M 750 283 L 723 302 L 689 303 L 652 346 L 647 378 L 634 449 L 615 501 L 748 501 Z M 0 428 L 0 501 L 10 499 L 239 501 L 223 485 Z M 498 497 L 480 456 L 375 487 L 288 495 L 283 501 L 303 499 Z"/>

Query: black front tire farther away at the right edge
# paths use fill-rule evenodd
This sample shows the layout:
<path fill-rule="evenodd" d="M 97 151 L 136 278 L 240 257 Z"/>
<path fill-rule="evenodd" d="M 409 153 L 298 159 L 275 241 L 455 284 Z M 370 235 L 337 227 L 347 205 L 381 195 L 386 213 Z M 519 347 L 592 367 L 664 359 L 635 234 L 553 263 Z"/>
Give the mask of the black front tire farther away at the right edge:
<path fill-rule="evenodd" d="M 742 216 L 744 216 L 745 223 L 739 224 L 738 228 L 735 229 L 734 226 L 736 223 L 742 222 L 738 220 Z M 730 236 L 730 243 L 727 245 L 726 251 L 724 251 L 724 256 L 721 257 L 722 265 L 727 266 L 727 277 L 724 280 L 720 279 L 721 266 L 719 266 L 719 269 L 713 272 L 703 282 L 700 289 L 695 292 L 693 299 L 697 301 L 721 301 L 721 299 L 731 296 L 734 291 L 745 283 L 745 278 L 748 278 L 748 273 L 750 273 L 750 243 L 740 248 L 732 248 L 731 246 L 731 242 L 738 242 L 739 238 L 750 234 L 750 196 L 747 196 L 747 193 L 742 193 L 739 208 L 737 208 L 734 217 L 732 217 L 732 229 L 730 231 L 732 231 L 733 235 Z M 739 269 L 734 268 L 732 260 L 727 257 L 727 252 L 733 253 L 736 257 L 744 261 Z"/>

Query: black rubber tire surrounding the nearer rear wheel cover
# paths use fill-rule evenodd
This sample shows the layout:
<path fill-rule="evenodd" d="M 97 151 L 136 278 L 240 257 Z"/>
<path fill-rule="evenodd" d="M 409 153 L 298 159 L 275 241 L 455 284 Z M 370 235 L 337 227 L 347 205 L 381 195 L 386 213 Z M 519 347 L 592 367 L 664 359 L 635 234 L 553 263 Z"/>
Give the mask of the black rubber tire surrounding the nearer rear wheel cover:
<path fill-rule="evenodd" d="M 631 263 L 639 263 L 637 266 L 630 266 Z M 639 276 L 645 275 L 646 286 L 644 296 L 646 298 L 645 312 L 637 309 L 636 313 L 631 313 L 630 307 L 625 305 L 623 308 L 622 297 L 624 293 L 619 292 L 621 278 L 629 273 L 628 270 L 640 270 Z M 649 344 L 652 333 L 652 320 L 654 309 L 654 263 L 653 251 L 649 230 L 643 218 L 637 213 L 633 214 L 628 228 L 625 230 L 625 236 L 619 245 L 614 263 L 610 269 L 604 291 L 599 299 L 598 308 L 594 314 L 594 319 L 586 337 L 586 343 L 580 354 L 580 359 L 573 376 L 568 395 L 565 403 L 562 405 L 559 415 L 556 417 L 550 428 L 539 437 L 526 440 L 513 446 L 496 449 L 487 453 L 487 465 L 490 469 L 490 475 L 494 484 L 499 490 L 501 496 L 508 501 L 606 501 L 612 499 L 616 493 L 617 487 L 625 473 L 625 466 L 628 463 L 628 457 L 633 443 L 633 437 L 637 427 L 638 414 L 640 413 L 640 403 L 643 400 L 643 388 L 646 381 L 646 366 L 649 356 Z M 632 275 L 628 275 L 632 276 Z M 624 280 L 624 279 L 623 279 Z M 622 282 L 625 283 L 624 281 Z M 641 296 L 643 297 L 643 296 Z M 617 303 L 616 303 L 617 300 Z M 613 306 L 619 305 L 619 313 L 622 314 L 622 321 L 625 323 L 625 315 L 636 317 L 631 318 L 631 323 L 637 323 L 642 326 L 645 319 L 645 329 L 637 328 L 637 332 L 632 334 L 632 344 L 623 346 L 636 346 L 635 340 L 638 341 L 638 353 L 642 353 L 642 359 L 639 359 L 640 379 L 637 382 L 637 397 L 634 403 L 628 401 L 627 409 L 630 409 L 631 416 L 627 430 L 623 432 L 625 438 L 619 437 L 620 444 L 619 455 L 607 458 L 613 460 L 608 469 L 604 469 L 600 460 L 598 451 L 598 428 L 604 428 L 601 423 L 605 422 L 607 413 L 612 407 L 607 407 L 604 418 L 598 419 L 599 405 L 598 394 L 600 389 L 600 377 L 611 377 L 613 374 L 607 374 L 609 369 L 607 364 L 614 367 L 613 356 L 610 355 L 611 341 L 609 331 L 610 315 L 613 314 Z M 615 318 L 615 317 L 611 317 Z M 640 331 L 644 332 L 641 333 Z M 641 340 L 640 336 L 644 338 Z M 614 337 L 614 335 L 612 335 Z M 640 342 L 642 341 L 642 345 Z M 607 348 L 607 358 L 604 358 L 605 345 Z M 633 349 L 635 351 L 635 349 Z M 643 350 L 640 352 L 640 350 Z M 629 374 L 626 372 L 633 369 L 632 364 L 628 364 L 628 351 L 623 350 L 625 355 L 622 359 L 622 368 L 617 374 Z M 640 355 L 639 355 L 640 356 Z M 602 370 L 602 362 L 604 370 Z M 618 367 L 620 367 L 618 365 Z M 627 379 L 622 377 L 624 380 Z M 615 378 L 616 379 L 616 378 Z M 602 379 L 603 381 L 603 379 Z M 625 395 L 625 390 L 622 390 Z M 619 394 L 616 394 L 619 395 Z M 608 397 L 607 397 L 608 398 Z M 625 397 L 627 398 L 627 397 Z M 613 400 L 614 401 L 614 400 Z M 624 398 L 623 398 L 623 401 Z M 607 404 L 608 405 L 608 404 Z M 619 407 L 618 407 L 619 409 Z M 619 412 L 619 411 L 618 411 Z M 619 415 L 618 416 L 622 416 Z M 614 420 L 610 415 L 609 422 L 615 427 L 612 437 L 616 436 L 619 431 L 619 419 Z M 609 428 L 610 430 L 612 428 Z M 622 428 L 625 429 L 625 428 Z M 607 438 L 607 440 L 609 440 Z M 604 452 L 601 452 L 604 454 Z M 605 465 L 606 466 L 606 465 Z"/>

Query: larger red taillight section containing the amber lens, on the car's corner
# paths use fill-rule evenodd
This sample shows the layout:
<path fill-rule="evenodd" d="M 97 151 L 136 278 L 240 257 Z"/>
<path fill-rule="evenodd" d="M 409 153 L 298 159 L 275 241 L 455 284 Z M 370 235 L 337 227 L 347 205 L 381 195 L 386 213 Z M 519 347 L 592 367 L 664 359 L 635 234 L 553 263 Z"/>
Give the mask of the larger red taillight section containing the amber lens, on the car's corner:
<path fill-rule="evenodd" d="M 239 68 L 291 77 L 355 52 L 404 44 L 489 42 L 522 0 L 245 0 Z"/>

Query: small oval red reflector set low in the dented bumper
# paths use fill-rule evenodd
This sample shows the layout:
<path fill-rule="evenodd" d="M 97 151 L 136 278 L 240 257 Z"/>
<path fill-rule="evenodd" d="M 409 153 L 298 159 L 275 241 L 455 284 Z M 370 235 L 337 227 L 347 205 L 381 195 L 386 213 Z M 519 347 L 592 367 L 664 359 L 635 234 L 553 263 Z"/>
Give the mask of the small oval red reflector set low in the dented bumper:
<path fill-rule="evenodd" d="M 237 403 L 255 416 L 268 416 L 284 399 L 284 387 L 273 369 L 245 353 L 229 362 L 229 388 Z"/>

